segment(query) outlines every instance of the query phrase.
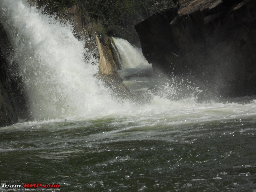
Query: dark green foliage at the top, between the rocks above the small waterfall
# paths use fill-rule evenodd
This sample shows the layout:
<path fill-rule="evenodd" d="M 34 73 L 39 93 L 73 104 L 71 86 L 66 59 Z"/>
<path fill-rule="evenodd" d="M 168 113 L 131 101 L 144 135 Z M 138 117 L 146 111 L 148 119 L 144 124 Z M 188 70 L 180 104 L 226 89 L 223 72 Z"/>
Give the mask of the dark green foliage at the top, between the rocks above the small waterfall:
<path fill-rule="evenodd" d="M 134 25 L 154 12 L 173 6 L 172 0 L 83 0 L 90 17 L 109 35 L 131 39 L 136 31 Z M 100 22 L 99 22 L 100 21 Z M 100 30 L 101 30 L 100 29 Z M 113 29 L 119 30 L 113 32 Z M 112 31 L 111 31 L 112 30 Z M 120 33 L 123 33 L 120 35 Z M 124 35 L 125 34 L 125 35 Z M 117 35 L 118 36 L 118 35 Z"/>

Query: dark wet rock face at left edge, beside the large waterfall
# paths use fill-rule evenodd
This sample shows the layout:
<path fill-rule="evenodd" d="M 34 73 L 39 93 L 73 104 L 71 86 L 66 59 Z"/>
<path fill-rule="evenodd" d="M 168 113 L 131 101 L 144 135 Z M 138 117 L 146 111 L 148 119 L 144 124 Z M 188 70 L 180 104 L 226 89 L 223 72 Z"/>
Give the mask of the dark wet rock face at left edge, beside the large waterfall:
<path fill-rule="evenodd" d="M 11 43 L 0 24 L 0 127 L 17 123 L 19 118 L 30 119 L 18 65 L 8 59 L 11 52 Z"/>

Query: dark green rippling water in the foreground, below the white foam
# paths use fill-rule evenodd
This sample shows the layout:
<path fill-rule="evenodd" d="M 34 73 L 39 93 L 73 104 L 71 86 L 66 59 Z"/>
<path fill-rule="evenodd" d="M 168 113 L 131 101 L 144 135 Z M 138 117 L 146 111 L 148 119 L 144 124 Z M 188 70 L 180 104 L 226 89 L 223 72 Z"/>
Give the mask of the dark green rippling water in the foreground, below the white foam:
<path fill-rule="evenodd" d="M 16 124 L 0 129 L 1 180 L 60 184 L 63 192 L 256 191 L 255 128 L 254 116 Z"/>

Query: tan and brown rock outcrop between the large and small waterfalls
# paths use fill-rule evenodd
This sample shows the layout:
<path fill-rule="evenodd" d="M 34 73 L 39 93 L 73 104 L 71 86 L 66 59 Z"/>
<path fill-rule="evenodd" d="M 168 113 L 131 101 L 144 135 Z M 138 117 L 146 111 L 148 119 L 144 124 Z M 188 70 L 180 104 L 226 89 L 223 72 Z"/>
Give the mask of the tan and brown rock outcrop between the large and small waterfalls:
<path fill-rule="evenodd" d="M 113 40 L 111 41 L 109 37 L 96 33 L 86 11 L 84 1 L 78 0 L 76 5 L 66 9 L 65 12 L 66 14 L 63 15 L 64 19 L 72 21 L 78 38 L 89 39 L 89 41 L 85 41 L 85 47 L 89 49 L 90 53 L 95 53 L 95 57 L 99 60 L 99 74 L 96 75 L 97 78 L 103 80 L 106 86 L 112 89 L 114 95 L 125 98 L 132 97 L 131 92 L 123 84 L 123 80 L 117 72 L 120 69 L 120 65 L 112 45 Z"/>

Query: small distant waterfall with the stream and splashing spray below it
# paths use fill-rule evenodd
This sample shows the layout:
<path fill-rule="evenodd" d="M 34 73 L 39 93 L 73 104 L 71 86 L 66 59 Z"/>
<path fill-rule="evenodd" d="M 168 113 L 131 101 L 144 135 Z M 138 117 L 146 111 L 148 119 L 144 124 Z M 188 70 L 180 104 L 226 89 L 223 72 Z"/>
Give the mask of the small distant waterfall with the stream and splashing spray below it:
<path fill-rule="evenodd" d="M 120 76 L 131 90 L 150 90 L 169 100 L 197 99 L 202 91 L 188 79 L 182 77 L 155 76 L 152 65 L 143 56 L 140 48 L 134 47 L 127 40 L 113 38 L 120 55 L 122 70 Z M 131 56 L 132 55 L 132 56 Z M 192 100 L 191 100 L 192 99 Z"/>

